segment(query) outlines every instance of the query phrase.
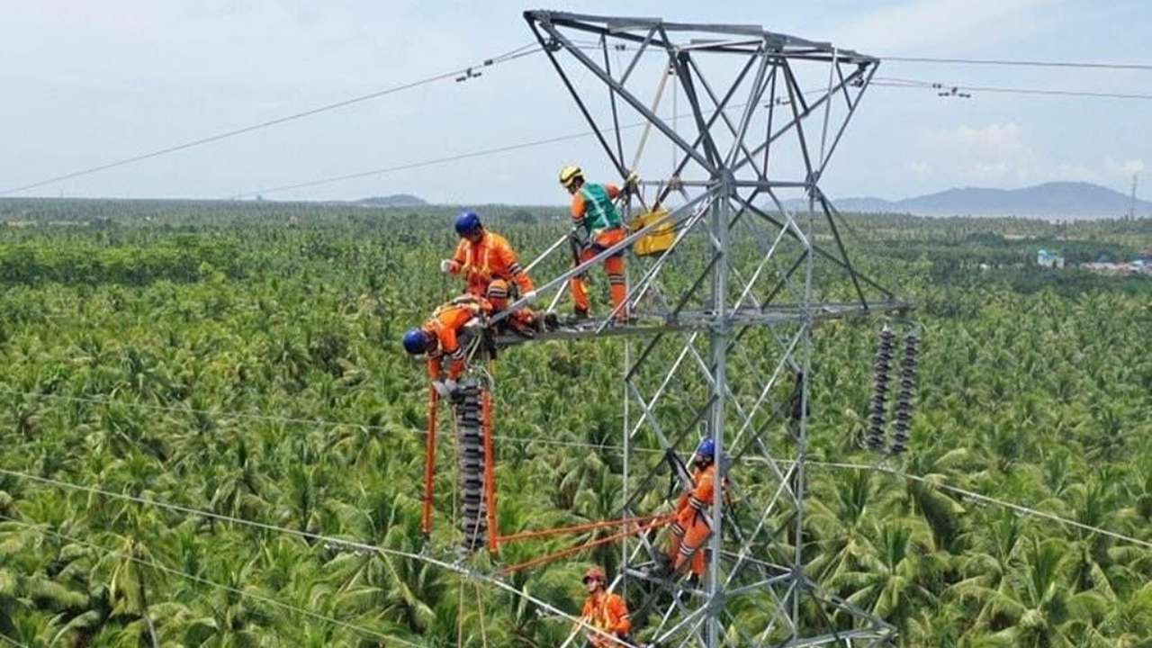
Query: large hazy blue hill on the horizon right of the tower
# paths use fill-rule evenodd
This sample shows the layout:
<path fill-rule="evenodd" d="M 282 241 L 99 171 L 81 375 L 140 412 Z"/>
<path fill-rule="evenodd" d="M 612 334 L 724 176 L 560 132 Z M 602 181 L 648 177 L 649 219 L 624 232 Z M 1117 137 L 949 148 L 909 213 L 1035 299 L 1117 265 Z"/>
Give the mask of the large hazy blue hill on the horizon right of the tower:
<path fill-rule="evenodd" d="M 1119 218 L 1130 196 L 1090 182 L 1046 182 L 1023 189 L 965 187 L 902 201 L 834 198 L 840 211 L 897 212 L 925 216 L 1020 216 L 1036 218 Z M 790 208 L 804 205 L 791 201 Z M 1136 201 L 1136 216 L 1152 216 L 1152 203 Z"/>

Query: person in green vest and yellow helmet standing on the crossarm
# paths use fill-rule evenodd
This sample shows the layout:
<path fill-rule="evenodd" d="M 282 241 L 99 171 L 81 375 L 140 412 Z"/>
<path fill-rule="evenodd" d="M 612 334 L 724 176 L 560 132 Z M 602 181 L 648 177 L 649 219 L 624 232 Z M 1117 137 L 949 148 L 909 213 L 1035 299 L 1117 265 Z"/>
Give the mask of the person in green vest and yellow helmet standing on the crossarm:
<path fill-rule="evenodd" d="M 620 196 L 620 187 L 585 182 L 584 172 L 578 166 L 566 166 L 560 171 L 560 183 L 571 194 L 573 238 L 576 243 L 576 264 L 586 262 L 612 246 L 621 242 L 628 235 L 624 221 L 616 211 L 613 201 Z M 624 183 L 626 190 L 635 189 L 636 174 L 629 174 Z M 628 307 L 623 306 L 628 289 L 624 286 L 624 250 L 604 259 L 604 270 L 608 274 L 608 289 L 612 294 L 612 306 L 617 322 L 628 319 Z M 591 303 L 583 276 L 573 277 L 574 315 L 577 318 L 588 317 Z"/>

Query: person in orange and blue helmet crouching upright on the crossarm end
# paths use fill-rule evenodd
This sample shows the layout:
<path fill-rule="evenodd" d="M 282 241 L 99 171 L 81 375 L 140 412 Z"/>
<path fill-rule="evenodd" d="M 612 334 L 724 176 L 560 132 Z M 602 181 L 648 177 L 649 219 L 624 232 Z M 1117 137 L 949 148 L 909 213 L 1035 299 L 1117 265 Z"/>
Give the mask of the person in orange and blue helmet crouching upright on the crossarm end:
<path fill-rule="evenodd" d="M 441 272 L 463 276 L 465 293 L 487 299 L 494 312 L 508 308 L 509 299 L 516 299 L 515 291 L 529 303 L 536 303 L 532 279 L 520 265 L 507 239 L 488 232 L 473 211 L 461 212 L 456 217 L 455 229 L 460 243 L 452 258 L 440 262 Z M 525 334 L 531 334 L 539 326 L 536 315 L 528 308 L 517 309 L 505 322 Z"/>

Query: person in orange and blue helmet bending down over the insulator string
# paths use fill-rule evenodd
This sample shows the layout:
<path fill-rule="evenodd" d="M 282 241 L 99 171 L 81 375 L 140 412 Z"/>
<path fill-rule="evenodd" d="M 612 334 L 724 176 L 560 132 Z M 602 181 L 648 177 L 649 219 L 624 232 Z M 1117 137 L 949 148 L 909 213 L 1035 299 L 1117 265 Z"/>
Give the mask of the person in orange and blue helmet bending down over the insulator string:
<path fill-rule="evenodd" d="M 483 327 L 491 314 L 492 303 L 487 299 L 464 294 L 435 309 L 423 326 L 404 333 L 404 351 L 411 355 L 427 356 L 429 379 L 441 397 L 452 395 L 456 391 L 456 380 L 464 372 L 461 338 L 465 329 Z M 447 377 L 444 371 L 445 361 L 448 362 Z"/>

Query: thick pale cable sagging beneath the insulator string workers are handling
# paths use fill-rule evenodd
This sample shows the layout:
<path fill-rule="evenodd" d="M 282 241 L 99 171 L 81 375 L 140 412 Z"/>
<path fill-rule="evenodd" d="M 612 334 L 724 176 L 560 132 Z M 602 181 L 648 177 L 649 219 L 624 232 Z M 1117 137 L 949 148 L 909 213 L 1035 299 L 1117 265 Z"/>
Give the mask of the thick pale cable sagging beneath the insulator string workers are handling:
<path fill-rule="evenodd" d="M 467 578 L 470 578 L 472 580 L 477 580 L 477 581 L 480 581 L 480 582 L 486 582 L 486 583 L 488 583 L 488 585 L 491 585 L 493 587 L 498 587 L 500 589 L 503 589 L 505 592 L 508 592 L 510 594 L 520 596 L 521 598 L 524 598 L 525 601 L 529 601 L 530 603 L 533 603 L 537 606 L 552 612 L 553 615 L 563 617 L 567 620 L 570 620 L 573 623 L 579 624 L 585 630 L 588 630 L 590 632 L 593 632 L 593 633 L 597 633 L 600 636 L 606 638 L 607 640 L 611 640 L 613 645 L 628 646 L 628 647 L 631 647 L 631 648 L 637 648 L 637 647 L 634 647 L 631 643 L 628 643 L 626 641 L 621 641 L 621 640 L 616 639 L 613 635 L 604 633 L 602 631 L 593 627 L 592 625 L 590 625 L 586 621 L 584 621 L 583 619 L 581 619 L 578 617 L 575 617 L 573 615 L 569 615 L 568 612 L 564 612 L 563 610 L 561 610 L 561 609 L 552 605 L 551 603 L 548 603 L 548 602 L 546 602 L 546 601 L 544 601 L 541 598 L 538 598 L 537 596 L 535 596 L 532 594 L 529 594 L 528 592 L 523 592 L 521 589 L 517 589 L 516 587 L 511 586 L 510 583 L 508 583 L 508 582 L 506 582 L 506 581 L 503 581 L 503 580 L 501 580 L 499 578 L 495 578 L 493 575 L 485 574 L 483 572 L 478 572 L 478 571 L 468 568 L 468 567 L 465 567 L 464 565 L 462 565 L 460 563 L 448 563 L 446 560 L 440 560 L 438 558 L 433 558 L 433 557 L 426 556 L 424 553 L 414 553 L 411 551 L 404 551 L 404 550 L 401 550 L 401 549 L 391 549 L 391 548 L 387 548 L 387 547 L 377 547 L 377 545 L 373 545 L 373 544 L 367 544 L 367 543 L 355 541 L 355 540 L 346 540 L 346 538 L 341 538 L 341 537 L 328 536 L 328 535 L 323 535 L 323 534 L 312 533 L 312 532 L 305 532 L 305 530 L 301 530 L 301 529 L 293 529 L 293 528 L 287 528 L 287 527 L 280 527 L 280 526 L 276 526 L 276 525 L 270 525 L 267 522 L 258 522 L 256 520 L 249 520 L 247 518 L 236 518 L 236 517 L 233 517 L 233 515 L 226 515 L 223 513 L 217 513 L 214 511 L 203 511 L 203 510 L 199 510 L 199 508 L 194 508 L 194 507 L 190 507 L 190 506 L 183 506 L 183 505 L 180 505 L 180 504 L 172 504 L 172 503 L 162 502 L 162 500 L 159 500 L 159 499 L 150 499 L 150 498 L 146 498 L 146 497 L 139 497 L 139 496 L 128 495 L 128 493 L 120 493 L 120 492 L 114 492 L 114 491 L 109 491 L 109 490 L 105 490 L 105 489 L 100 489 L 100 488 L 94 488 L 94 487 L 88 487 L 88 485 L 82 485 L 82 484 L 74 484 L 71 482 L 66 482 L 66 481 L 61 481 L 61 480 L 54 480 L 54 479 L 51 479 L 51 477 L 41 477 L 41 476 L 37 476 L 37 475 L 30 475 L 28 473 L 21 473 L 21 472 L 17 472 L 17 470 L 8 470 L 7 468 L 0 468 L 0 475 L 8 475 L 10 477 L 24 479 L 24 480 L 29 480 L 29 481 L 32 481 L 32 482 L 38 482 L 38 483 L 46 484 L 46 485 L 53 485 L 53 487 L 56 487 L 56 488 L 63 488 L 63 489 L 68 489 L 68 490 L 73 490 L 73 491 L 78 491 L 78 492 L 86 492 L 89 495 L 100 495 L 100 496 L 104 496 L 104 497 L 111 497 L 113 499 L 120 499 L 120 500 L 123 500 L 123 502 L 131 502 L 134 504 L 139 504 L 139 505 L 144 505 L 144 506 L 156 506 L 158 508 L 167 508 L 169 511 L 174 511 L 174 512 L 177 512 L 177 513 L 183 513 L 185 515 L 198 515 L 198 517 L 202 517 L 202 518 L 218 520 L 218 521 L 221 521 L 221 522 L 230 522 L 230 523 L 247 526 L 247 527 L 252 527 L 252 528 L 257 528 L 257 529 L 262 529 L 262 530 L 274 532 L 274 533 L 280 533 L 280 534 L 285 534 L 285 535 L 291 535 L 291 536 L 296 536 L 296 537 L 303 538 L 303 540 L 311 540 L 311 541 L 316 541 L 316 542 L 324 542 L 326 545 L 333 547 L 333 548 L 340 548 L 340 547 L 342 547 L 342 548 L 346 548 L 346 549 L 349 549 L 349 550 L 353 550 L 353 551 L 357 551 L 357 552 L 378 553 L 378 555 L 382 555 L 382 556 L 393 556 L 393 557 L 396 557 L 396 558 L 407 558 L 407 559 L 410 559 L 410 560 L 418 560 L 418 562 L 422 562 L 422 563 L 427 563 L 430 565 L 434 565 L 434 566 L 441 567 L 444 570 L 450 571 L 450 572 L 456 573 L 458 575 L 463 575 L 463 577 L 467 577 Z"/>

